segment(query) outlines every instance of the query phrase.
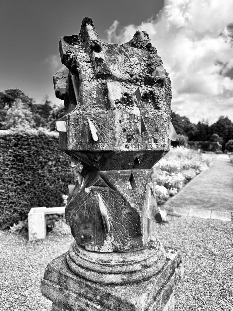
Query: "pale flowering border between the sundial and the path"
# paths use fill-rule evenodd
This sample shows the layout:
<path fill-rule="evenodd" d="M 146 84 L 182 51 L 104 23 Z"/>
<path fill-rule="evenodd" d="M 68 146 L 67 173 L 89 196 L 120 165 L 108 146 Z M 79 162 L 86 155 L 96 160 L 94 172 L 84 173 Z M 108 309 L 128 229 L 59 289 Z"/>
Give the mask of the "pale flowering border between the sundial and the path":
<path fill-rule="evenodd" d="M 208 169 L 212 159 L 185 147 L 171 150 L 152 168 L 158 205 L 175 195 L 190 179 Z"/>

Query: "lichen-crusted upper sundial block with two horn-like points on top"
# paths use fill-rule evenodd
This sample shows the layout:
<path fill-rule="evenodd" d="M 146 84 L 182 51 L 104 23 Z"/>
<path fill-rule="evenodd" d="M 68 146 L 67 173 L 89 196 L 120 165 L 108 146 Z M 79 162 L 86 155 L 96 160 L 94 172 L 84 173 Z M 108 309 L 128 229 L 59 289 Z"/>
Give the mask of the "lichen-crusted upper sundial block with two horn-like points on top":
<path fill-rule="evenodd" d="M 60 148 L 83 155 L 84 151 L 124 151 L 125 158 L 126 151 L 145 151 L 147 158 L 153 158 L 146 167 L 151 168 L 160 158 L 154 151 L 161 155 L 170 149 L 171 81 L 148 34 L 137 31 L 122 45 L 104 43 L 92 20 L 85 18 L 80 34 L 62 37 L 59 49 L 69 69 L 64 96 L 68 114 L 61 119 L 67 134 L 60 133 Z M 56 81 L 62 73 L 54 76 L 58 95 L 61 81 Z"/>

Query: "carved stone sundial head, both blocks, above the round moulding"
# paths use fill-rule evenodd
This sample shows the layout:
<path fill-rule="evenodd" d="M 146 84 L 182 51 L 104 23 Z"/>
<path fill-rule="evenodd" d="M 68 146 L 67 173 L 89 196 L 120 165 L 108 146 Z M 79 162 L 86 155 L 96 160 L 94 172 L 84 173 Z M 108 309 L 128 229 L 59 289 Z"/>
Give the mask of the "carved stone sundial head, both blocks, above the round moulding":
<path fill-rule="evenodd" d="M 54 75 L 66 109 L 57 122 L 60 149 L 71 164 L 84 165 L 67 223 L 76 242 L 90 250 L 143 247 L 148 218 L 156 221 L 150 169 L 176 139 L 168 73 L 145 31 L 125 44 L 108 44 L 89 17 L 79 35 L 60 39 L 59 51 L 66 66 Z"/>

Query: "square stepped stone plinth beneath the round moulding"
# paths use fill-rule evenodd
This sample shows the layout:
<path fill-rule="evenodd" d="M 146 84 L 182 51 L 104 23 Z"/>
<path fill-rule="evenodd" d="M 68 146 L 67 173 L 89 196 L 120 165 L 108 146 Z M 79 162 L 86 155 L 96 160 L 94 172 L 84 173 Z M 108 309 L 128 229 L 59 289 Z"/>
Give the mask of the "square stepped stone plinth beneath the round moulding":
<path fill-rule="evenodd" d="M 104 285 L 75 275 L 68 267 L 64 253 L 46 267 L 41 292 L 53 301 L 52 310 L 172 311 L 173 291 L 184 267 L 177 250 L 166 248 L 166 255 L 162 270 L 149 279 L 124 285 Z"/>

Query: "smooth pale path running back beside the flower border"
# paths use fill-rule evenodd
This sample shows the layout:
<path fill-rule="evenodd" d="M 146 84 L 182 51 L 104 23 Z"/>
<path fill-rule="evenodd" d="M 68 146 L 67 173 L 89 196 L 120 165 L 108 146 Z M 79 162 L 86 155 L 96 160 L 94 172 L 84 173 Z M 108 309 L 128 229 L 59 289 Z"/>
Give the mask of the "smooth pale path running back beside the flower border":
<path fill-rule="evenodd" d="M 162 208 L 186 216 L 231 220 L 233 165 L 229 157 L 218 155 L 208 170 L 192 179 Z"/>

